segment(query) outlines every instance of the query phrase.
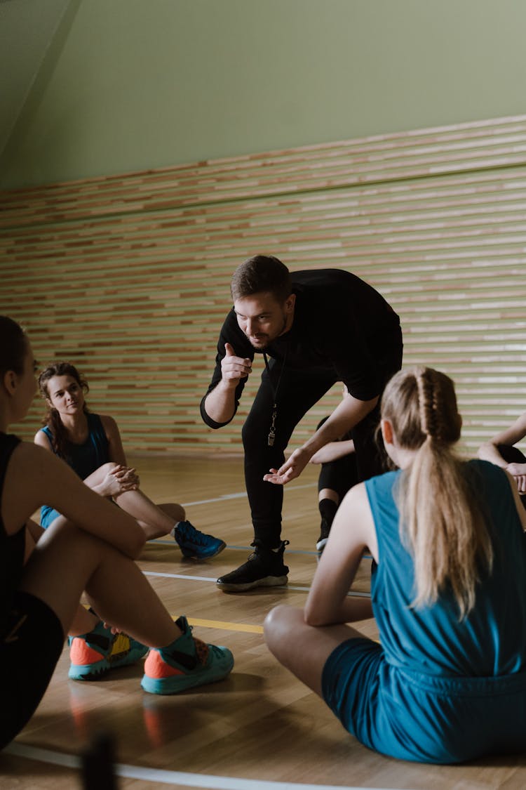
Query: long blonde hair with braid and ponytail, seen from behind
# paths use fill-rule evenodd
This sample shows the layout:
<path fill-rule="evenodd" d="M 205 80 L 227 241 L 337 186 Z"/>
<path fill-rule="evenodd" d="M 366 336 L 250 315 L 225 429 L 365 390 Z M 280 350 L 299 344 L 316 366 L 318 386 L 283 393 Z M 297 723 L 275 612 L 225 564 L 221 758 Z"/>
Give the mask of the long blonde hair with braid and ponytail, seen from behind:
<path fill-rule="evenodd" d="M 493 551 L 466 465 L 453 451 L 461 432 L 453 382 L 427 367 L 401 371 L 386 388 L 382 417 L 401 447 L 416 450 L 397 492 L 401 538 L 415 562 L 412 605 L 433 604 L 449 584 L 463 619 Z"/>

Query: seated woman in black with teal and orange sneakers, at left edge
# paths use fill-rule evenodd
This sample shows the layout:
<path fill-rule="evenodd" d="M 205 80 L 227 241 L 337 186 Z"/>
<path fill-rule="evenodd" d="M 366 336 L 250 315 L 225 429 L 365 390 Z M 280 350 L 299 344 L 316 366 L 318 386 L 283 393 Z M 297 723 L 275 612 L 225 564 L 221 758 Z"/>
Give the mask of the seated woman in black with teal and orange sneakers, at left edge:
<path fill-rule="evenodd" d="M 63 461 L 7 433 L 27 414 L 35 391 L 28 338 L 0 316 L 0 748 L 39 705 L 65 634 L 73 637 L 72 649 L 84 645 L 94 672 L 111 668 L 119 630 L 132 635 L 133 651 L 149 645 L 141 685 L 152 694 L 211 683 L 233 667 L 232 653 L 194 639 L 185 617 L 173 623 L 134 562 L 144 546 L 135 519 Z M 33 548 L 27 525 L 43 502 L 66 518 L 55 519 Z M 84 591 L 103 619 L 80 607 Z"/>

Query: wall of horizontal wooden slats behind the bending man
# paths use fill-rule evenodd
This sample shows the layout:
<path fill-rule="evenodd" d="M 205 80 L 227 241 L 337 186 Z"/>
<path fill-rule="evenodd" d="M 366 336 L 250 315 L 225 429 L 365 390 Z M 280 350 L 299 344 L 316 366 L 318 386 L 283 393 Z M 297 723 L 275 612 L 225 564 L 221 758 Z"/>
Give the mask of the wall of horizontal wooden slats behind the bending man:
<path fill-rule="evenodd" d="M 130 452 L 240 450 L 256 374 L 221 431 L 199 402 L 229 278 L 257 252 L 378 288 L 405 364 L 455 378 L 470 450 L 526 409 L 526 116 L 13 190 L 0 209 L 2 312 L 40 361 L 78 364 Z"/>

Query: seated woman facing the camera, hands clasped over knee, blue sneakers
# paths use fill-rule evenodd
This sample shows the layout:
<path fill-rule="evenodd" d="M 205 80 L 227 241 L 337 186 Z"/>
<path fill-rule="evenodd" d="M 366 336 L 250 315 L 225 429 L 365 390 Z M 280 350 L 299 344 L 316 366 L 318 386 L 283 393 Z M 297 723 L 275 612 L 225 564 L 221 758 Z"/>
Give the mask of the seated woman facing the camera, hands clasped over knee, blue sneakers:
<path fill-rule="evenodd" d="M 35 434 L 35 444 L 63 458 L 93 491 L 118 502 L 139 521 L 147 540 L 173 535 L 183 555 L 193 559 L 209 559 L 225 548 L 223 540 L 185 521 L 181 505 L 155 505 L 140 491 L 135 469 L 126 465 L 117 423 L 88 410 L 84 400 L 88 382 L 76 367 L 68 362 L 49 365 L 39 375 L 39 388 L 47 414 L 45 426 Z M 46 529 L 59 515 L 44 506 L 40 525 Z"/>

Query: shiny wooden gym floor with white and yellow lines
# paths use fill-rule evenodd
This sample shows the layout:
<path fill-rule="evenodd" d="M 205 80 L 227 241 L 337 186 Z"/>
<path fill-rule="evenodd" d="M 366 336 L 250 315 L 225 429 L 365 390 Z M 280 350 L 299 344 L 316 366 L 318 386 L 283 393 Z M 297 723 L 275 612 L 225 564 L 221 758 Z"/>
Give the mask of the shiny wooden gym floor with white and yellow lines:
<path fill-rule="evenodd" d="M 196 635 L 233 650 L 233 672 L 222 683 L 156 697 L 140 689 L 141 664 L 97 683 L 69 681 L 64 649 L 35 716 L 0 754 L 1 788 L 80 788 L 78 755 L 101 732 L 116 739 L 118 787 L 126 790 L 526 787 L 526 755 L 423 766 L 368 751 L 268 653 L 262 635 L 267 611 L 282 602 L 301 606 L 315 572 L 317 468 L 285 487 L 288 587 L 227 594 L 215 579 L 244 562 L 252 540 L 241 459 L 129 463 L 155 502 L 182 502 L 196 527 L 226 540 L 225 551 L 208 562 L 182 559 L 171 540 L 151 542 L 140 567 L 173 616 L 187 615 Z M 357 592 L 368 592 L 369 568 L 364 559 Z M 372 620 L 358 627 L 378 635 Z"/>

